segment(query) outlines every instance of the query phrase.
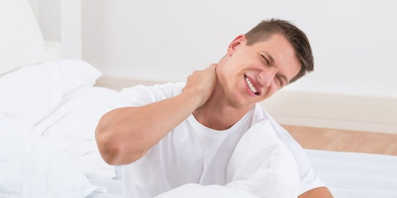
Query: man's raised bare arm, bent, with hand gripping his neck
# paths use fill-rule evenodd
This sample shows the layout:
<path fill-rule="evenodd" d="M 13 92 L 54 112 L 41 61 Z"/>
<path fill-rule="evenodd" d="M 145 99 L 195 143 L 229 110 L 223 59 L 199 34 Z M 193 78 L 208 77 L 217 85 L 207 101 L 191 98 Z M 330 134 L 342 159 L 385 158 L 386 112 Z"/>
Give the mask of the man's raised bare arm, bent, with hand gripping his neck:
<path fill-rule="evenodd" d="M 130 164 L 189 117 L 211 96 L 215 66 L 195 71 L 182 94 L 139 107 L 114 109 L 101 117 L 95 139 L 108 164 Z"/>

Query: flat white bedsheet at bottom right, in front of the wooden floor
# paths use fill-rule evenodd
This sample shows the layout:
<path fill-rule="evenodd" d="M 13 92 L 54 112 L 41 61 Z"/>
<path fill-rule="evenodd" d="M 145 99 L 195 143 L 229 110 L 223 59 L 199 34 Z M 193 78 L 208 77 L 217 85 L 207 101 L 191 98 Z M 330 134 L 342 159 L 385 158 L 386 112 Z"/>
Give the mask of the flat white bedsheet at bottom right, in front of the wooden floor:
<path fill-rule="evenodd" d="M 397 156 L 306 151 L 335 198 L 397 198 Z"/>

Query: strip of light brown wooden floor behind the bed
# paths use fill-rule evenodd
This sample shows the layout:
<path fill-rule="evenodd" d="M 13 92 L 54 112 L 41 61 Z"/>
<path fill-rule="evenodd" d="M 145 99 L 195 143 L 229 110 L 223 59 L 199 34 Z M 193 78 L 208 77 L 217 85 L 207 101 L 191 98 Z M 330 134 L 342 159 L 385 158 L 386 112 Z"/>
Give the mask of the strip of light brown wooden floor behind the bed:
<path fill-rule="evenodd" d="M 397 135 L 282 125 L 303 147 L 397 155 Z"/>

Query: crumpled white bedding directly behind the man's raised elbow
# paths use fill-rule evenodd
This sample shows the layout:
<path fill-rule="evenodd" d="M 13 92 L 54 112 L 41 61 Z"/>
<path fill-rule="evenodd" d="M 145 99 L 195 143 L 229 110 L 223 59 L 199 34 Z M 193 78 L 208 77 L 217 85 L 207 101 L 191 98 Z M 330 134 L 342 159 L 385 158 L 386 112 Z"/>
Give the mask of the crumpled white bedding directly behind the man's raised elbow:
<path fill-rule="evenodd" d="M 64 151 L 86 177 L 111 179 L 116 176 L 115 167 L 100 156 L 94 134 L 116 95 L 105 88 L 79 88 L 65 95 L 54 112 L 34 126 L 35 132 Z"/>

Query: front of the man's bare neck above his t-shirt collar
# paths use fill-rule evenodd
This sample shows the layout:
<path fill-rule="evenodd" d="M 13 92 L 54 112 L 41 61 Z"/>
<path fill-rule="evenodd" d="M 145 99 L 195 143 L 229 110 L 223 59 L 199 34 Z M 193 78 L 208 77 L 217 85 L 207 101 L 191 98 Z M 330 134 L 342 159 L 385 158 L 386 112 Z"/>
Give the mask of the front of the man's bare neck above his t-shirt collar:
<path fill-rule="evenodd" d="M 204 105 L 196 109 L 193 115 L 202 125 L 223 131 L 238 122 L 252 106 L 235 107 L 230 104 L 230 101 L 226 99 L 223 93 L 221 85 L 217 82 L 211 97 Z"/>

